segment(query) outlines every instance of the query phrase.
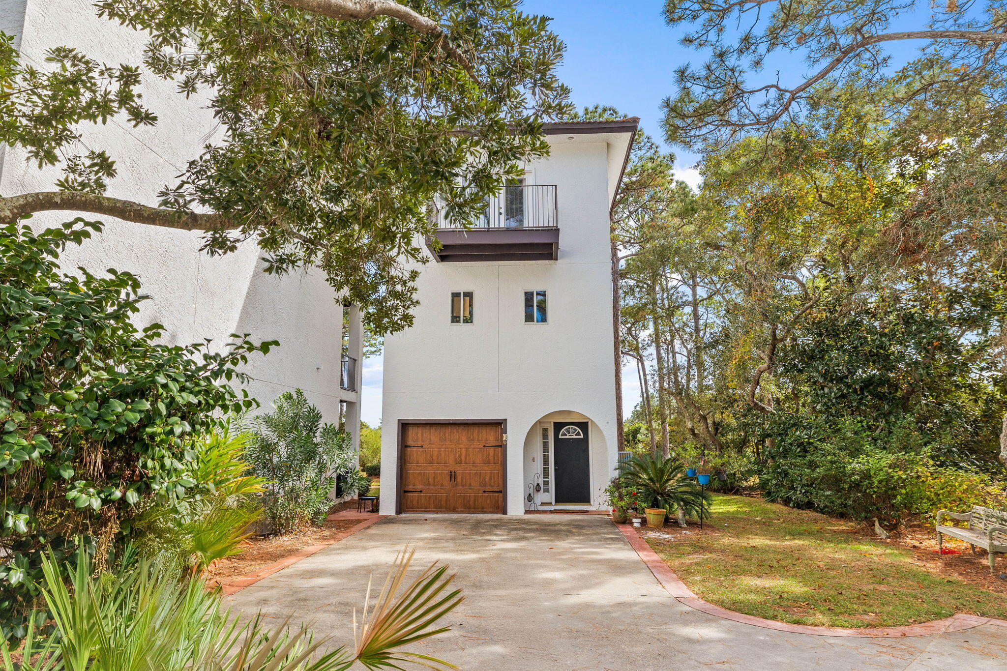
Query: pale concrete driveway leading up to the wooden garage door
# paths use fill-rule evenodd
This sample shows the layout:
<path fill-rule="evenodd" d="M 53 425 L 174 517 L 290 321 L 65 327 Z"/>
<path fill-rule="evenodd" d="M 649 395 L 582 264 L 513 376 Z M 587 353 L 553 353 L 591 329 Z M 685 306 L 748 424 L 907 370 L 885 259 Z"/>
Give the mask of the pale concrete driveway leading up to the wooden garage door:
<path fill-rule="evenodd" d="M 611 522 L 595 515 L 401 516 L 229 598 L 246 614 L 294 616 L 351 644 L 368 577 L 395 552 L 457 572 L 452 631 L 415 647 L 468 671 L 1007 669 L 1007 628 L 903 639 L 775 632 L 688 608 L 662 588 Z"/>

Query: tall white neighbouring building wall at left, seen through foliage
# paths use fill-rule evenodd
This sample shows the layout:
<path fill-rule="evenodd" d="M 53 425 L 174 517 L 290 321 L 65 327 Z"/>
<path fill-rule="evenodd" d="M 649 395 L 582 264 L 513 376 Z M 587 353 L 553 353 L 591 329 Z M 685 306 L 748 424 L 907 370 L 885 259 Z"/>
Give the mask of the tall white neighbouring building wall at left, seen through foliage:
<path fill-rule="evenodd" d="M 56 45 L 76 47 L 109 63 L 141 62 L 144 35 L 99 18 L 88 0 L 4 0 L 0 28 L 22 31 L 22 54 L 40 68 L 46 66 L 45 49 Z M 110 182 L 109 195 L 156 204 L 157 192 L 173 184 L 186 162 L 222 134 L 206 109 L 205 94 L 186 100 L 175 93 L 174 83 L 148 75 L 143 95 L 145 105 L 158 116 L 156 126 L 134 129 L 121 120 L 84 125 L 85 142 L 75 149 L 104 149 L 117 161 L 119 176 Z M 57 169 L 38 170 L 25 161 L 20 149 L 0 155 L 4 195 L 52 190 L 59 176 Z M 52 225 L 77 214 L 47 212 L 35 215 L 32 223 Z M 279 348 L 266 357 L 252 357 L 248 366 L 256 378 L 250 393 L 264 410 L 283 391 L 300 387 L 327 422 L 338 421 L 340 399 L 351 403 L 347 414 L 358 416 L 357 393 L 339 386 L 342 306 L 319 272 L 269 276 L 261 272 L 263 262 L 254 242 L 214 258 L 199 250 L 196 232 L 82 215 L 102 220 L 105 231 L 80 247 L 68 247 L 61 258 L 63 268 L 115 268 L 138 275 L 144 293 L 152 297 L 142 304 L 138 324 L 163 324 L 164 340 L 172 344 L 211 338 L 221 346 L 232 333 L 250 333 L 256 341 L 279 340 Z M 356 330 L 351 349 L 358 357 Z M 358 380 L 353 386 L 359 388 Z M 355 439 L 356 424 L 347 422 L 347 427 Z"/>

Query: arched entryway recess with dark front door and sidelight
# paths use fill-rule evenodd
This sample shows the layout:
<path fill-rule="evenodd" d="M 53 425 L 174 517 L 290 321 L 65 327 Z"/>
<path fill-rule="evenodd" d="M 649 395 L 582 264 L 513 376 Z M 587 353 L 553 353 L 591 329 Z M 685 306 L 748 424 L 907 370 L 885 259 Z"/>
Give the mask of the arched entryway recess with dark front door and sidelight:
<path fill-rule="evenodd" d="M 589 416 L 544 414 L 525 438 L 525 508 L 597 508 L 608 468 L 605 437 Z"/>

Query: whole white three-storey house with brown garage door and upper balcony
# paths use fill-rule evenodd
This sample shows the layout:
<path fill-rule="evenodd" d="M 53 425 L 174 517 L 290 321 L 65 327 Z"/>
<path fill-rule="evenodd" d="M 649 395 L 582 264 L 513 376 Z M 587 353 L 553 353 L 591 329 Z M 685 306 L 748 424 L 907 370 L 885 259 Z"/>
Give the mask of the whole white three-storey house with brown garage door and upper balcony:
<path fill-rule="evenodd" d="M 597 509 L 616 463 L 609 214 L 638 119 L 547 124 L 473 227 L 440 220 L 385 340 L 381 512 Z"/>

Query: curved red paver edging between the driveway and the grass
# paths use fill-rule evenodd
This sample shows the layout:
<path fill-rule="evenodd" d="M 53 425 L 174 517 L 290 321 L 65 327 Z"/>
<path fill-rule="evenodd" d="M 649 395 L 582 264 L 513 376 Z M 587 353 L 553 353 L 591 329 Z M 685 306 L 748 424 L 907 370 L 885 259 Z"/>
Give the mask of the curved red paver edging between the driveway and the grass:
<path fill-rule="evenodd" d="M 633 529 L 631 525 L 616 524 L 615 526 L 622 532 L 623 537 L 625 537 L 625 539 L 629 542 L 629 546 L 636 551 L 636 554 L 639 555 L 639 558 L 646 564 L 646 567 L 651 569 L 654 576 L 658 578 L 661 585 L 668 591 L 668 594 L 675 597 L 675 599 L 679 602 L 689 606 L 690 608 L 694 608 L 697 611 L 702 611 L 703 613 L 707 613 L 709 615 L 717 616 L 718 618 L 724 618 L 725 620 L 733 620 L 734 622 L 740 622 L 745 625 L 753 625 L 755 627 L 763 627 L 765 629 L 773 629 L 777 632 L 787 632 L 790 634 L 843 636 L 851 638 L 901 638 L 904 636 L 930 636 L 933 634 L 944 634 L 946 632 L 961 632 L 966 629 L 972 629 L 973 627 L 979 627 L 980 625 L 1007 627 L 1007 620 L 984 618 L 976 615 L 966 615 L 964 613 L 958 613 L 950 618 L 945 618 L 944 620 L 924 622 L 919 625 L 905 625 L 902 627 L 868 627 L 862 629 L 790 625 L 784 622 L 766 620 L 765 618 L 756 618 L 752 615 L 735 613 L 734 611 L 728 611 L 726 608 L 721 608 L 719 606 L 714 606 L 709 602 L 705 602 L 693 594 L 693 591 L 686 586 L 686 583 L 675 574 L 675 571 L 672 570 L 660 556 L 658 556 L 657 552 L 651 549 L 648 542 L 643 540 L 638 533 L 636 533 L 636 530 Z"/>

